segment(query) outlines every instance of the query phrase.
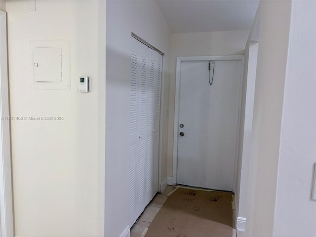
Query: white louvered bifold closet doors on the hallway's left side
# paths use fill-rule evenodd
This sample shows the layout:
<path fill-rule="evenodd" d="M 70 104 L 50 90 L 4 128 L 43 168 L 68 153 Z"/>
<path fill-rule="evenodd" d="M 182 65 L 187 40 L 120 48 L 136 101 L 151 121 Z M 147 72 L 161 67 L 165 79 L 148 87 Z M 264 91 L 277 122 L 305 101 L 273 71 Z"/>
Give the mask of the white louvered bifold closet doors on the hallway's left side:
<path fill-rule="evenodd" d="M 130 226 L 158 192 L 162 55 L 132 37 L 128 213 Z"/>

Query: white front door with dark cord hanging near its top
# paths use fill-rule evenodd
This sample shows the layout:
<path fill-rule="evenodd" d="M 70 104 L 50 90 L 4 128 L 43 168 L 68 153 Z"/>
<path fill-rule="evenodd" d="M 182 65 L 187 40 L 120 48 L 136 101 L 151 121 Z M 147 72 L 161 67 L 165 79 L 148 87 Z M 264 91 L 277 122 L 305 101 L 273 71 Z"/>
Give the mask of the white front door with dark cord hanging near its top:
<path fill-rule="evenodd" d="M 233 190 L 241 60 L 182 61 L 177 183 Z"/>

